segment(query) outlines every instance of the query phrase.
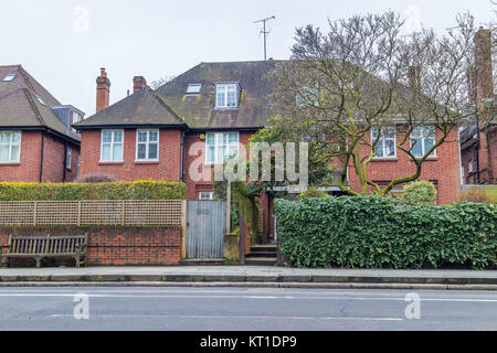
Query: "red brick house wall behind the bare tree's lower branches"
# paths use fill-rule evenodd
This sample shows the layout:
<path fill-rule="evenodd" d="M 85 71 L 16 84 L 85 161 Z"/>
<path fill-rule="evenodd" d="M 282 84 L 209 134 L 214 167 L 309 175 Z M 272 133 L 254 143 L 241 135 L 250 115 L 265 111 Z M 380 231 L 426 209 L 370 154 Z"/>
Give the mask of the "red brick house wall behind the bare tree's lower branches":
<path fill-rule="evenodd" d="M 438 133 L 438 132 L 437 132 Z M 396 139 L 402 139 L 398 133 Z M 370 152 L 367 146 L 361 147 L 361 153 Z M 461 191 L 461 169 L 457 129 L 454 129 L 445 143 L 436 149 L 436 157 L 427 159 L 422 164 L 417 180 L 429 180 L 437 189 L 437 203 L 447 204 L 455 200 Z M 387 183 L 394 178 L 408 176 L 415 172 L 415 164 L 403 151 L 396 151 L 395 159 L 374 159 L 368 167 L 368 179 L 377 183 Z M 360 183 L 353 168 L 350 167 L 350 185 L 360 192 Z"/>

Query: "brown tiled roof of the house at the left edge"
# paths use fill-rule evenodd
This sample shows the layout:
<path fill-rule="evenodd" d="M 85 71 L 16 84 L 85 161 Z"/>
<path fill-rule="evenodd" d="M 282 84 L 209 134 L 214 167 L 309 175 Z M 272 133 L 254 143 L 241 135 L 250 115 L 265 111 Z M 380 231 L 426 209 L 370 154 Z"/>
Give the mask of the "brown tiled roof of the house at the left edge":
<path fill-rule="evenodd" d="M 3 82 L 9 74 L 14 74 L 14 78 Z M 80 141 L 80 135 L 72 132 L 50 108 L 60 105 L 21 65 L 0 66 L 0 128 L 47 128 Z"/>

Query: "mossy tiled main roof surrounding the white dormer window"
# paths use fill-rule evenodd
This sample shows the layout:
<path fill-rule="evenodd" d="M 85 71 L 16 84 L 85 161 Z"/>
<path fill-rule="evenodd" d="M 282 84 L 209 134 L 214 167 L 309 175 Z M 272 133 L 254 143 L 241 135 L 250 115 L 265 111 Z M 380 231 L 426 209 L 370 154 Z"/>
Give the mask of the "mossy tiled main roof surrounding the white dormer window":
<path fill-rule="evenodd" d="M 271 117 L 267 74 L 284 61 L 201 63 L 157 89 L 190 128 L 261 128 Z M 215 108 L 215 83 L 235 82 L 237 108 Z M 186 94 L 189 84 L 202 84 L 200 94 Z"/>

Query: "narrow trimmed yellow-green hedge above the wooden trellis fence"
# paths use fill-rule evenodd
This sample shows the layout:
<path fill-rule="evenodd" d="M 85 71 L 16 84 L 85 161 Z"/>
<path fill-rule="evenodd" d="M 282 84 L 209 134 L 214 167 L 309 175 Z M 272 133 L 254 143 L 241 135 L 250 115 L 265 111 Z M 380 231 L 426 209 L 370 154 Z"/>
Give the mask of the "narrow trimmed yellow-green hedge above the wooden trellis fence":
<path fill-rule="evenodd" d="M 0 183 L 0 201 L 176 200 L 187 197 L 183 183 Z"/>

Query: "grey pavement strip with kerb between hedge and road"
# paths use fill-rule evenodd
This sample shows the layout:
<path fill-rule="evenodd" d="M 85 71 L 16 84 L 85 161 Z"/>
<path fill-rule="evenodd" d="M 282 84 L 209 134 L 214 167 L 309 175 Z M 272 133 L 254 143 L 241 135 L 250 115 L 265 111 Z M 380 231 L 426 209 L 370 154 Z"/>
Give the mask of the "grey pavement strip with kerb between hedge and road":
<path fill-rule="evenodd" d="M 308 269 L 276 266 L 95 266 L 0 269 L 0 287 L 12 286 L 497 290 L 497 270 Z"/>

